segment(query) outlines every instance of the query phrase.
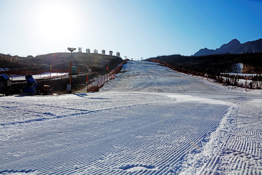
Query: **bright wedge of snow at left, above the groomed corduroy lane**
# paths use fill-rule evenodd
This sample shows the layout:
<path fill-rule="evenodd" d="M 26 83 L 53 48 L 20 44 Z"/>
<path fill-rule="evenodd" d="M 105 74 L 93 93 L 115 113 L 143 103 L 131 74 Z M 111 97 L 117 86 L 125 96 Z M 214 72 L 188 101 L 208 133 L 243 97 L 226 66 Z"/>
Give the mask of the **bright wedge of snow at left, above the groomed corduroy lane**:
<path fill-rule="evenodd" d="M 123 104 L 125 104 L 124 106 L 129 106 L 171 101 L 164 96 L 156 94 L 148 96 L 143 93 L 125 93 L 127 99 L 122 99 L 121 95 L 115 94 L 85 93 L 83 95 L 49 96 L 48 98 L 43 96 L 3 97 L 0 99 L 0 110 L 3 114 L 0 116 L 0 123 L 8 124 L 17 121 L 30 121 L 32 119 L 40 119 L 41 121 L 41 117 L 69 116 L 74 113 L 119 107 L 123 106 Z M 7 98 L 9 101 L 6 101 Z M 157 99 L 157 102 L 155 99 Z"/>

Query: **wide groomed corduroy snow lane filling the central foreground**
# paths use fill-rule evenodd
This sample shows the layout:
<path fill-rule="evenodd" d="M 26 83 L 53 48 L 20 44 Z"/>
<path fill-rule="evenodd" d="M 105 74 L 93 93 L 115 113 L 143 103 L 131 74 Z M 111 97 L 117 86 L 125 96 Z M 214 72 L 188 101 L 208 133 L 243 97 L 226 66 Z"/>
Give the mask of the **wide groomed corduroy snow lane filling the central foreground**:
<path fill-rule="evenodd" d="M 12 154 L 8 156 L 9 158 L 4 155 L 1 156 L 0 158 L 3 158 L 4 162 L 1 162 L 0 172 L 8 172 L 14 167 L 18 171 L 30 168 L 34 170 L 35 174 L 82 172 L 81 174 L 92 175 L 108 174 L 110 172 L 111 175 L 124 175 L 132 172 L 134 174 L 157 175 L 175 172 L 178 169 L 176 166 L 181 164 L 182 158 L 189 151 L 196 149 L 191 141 L 200 145 L 201 140 L 217 126 L 228 109 L 227 105 L 216 105 L 214 107 L 213 105 L 190 103 L 192 112 L 188 113 L 186 109 L 180 107 L 183 105 L 185 104 L 177 102 L 136 105 L 130 106 L 128 110 L 125 109 L 124 111 L 121 108 L 116 108 L 93 113 L 92 115 L 83 114 L 64 118 L 63 123 L 70 121 L 71 126 L 65 124 L 65 129 L 61 128 L 62 134 L 55 134 L 55 131 L 45 134 L 45 131 L 42 137 L 48 138 L 47 135 L 53 135 L 50 140 L 33 137 L 35 143 L 31 145 L 22 140 L 28 140 L 27 138 L 32 137 L 32 134 L 32 136 L 26 136 L 25 139 L 18 139 L 27 146 L 24 145 L 21 148 L 20 145 L 13 145 L 13 151 L 20 150 L 23 154 L 18 156 L 20 158 L 16 156 L 18 159 L 10 159 L 10 157 L 13 157 Z M 145 106 L 147 106 L 147 109 L 145 109 Z M 159 116 L 157 111 L 161 110 L 162 106 L 165 106 L 162 112 L 164 116 Z M 139 112 L 133 111 L 133 108 Z M 148 118 L 148 108 L 150 109 L 150 122 L 146 120 Z M 218 108 L 219 110 L 217 110 Z M 123 121 L 120 120 L 119 122 L 114 117 L 108 119 L 105 117 L 103 120 L 108 120 L 109 123 L 99 123 L 101 115 L 117 116 L 116 114 L 119 111 L 122 113 L 121 116 L 123 117 L 120 119 Z M 131 111 L 134 118 L 125 118 L 124 116 Z M 90 137 L 92 134 L 88 133 L 95 133 L 96 129 L 93 130 L 94 127 L 92 127 L 91 130 L 86 127 L 85 123 L 91 121 L 88 116 L 95 119 L 93 123 L 98 124 L 100 131 L 104 130 L 103 137 L 99 137 L 99 135 Z M 54 123 L 54 128 L 56 123 L 61 122 L 60 119 L 51 121 L 51 123 Z M 118 121 L 116 126 L 121 128 L 118 131 L 113 131 L 113 133 L 108 133 L 107 125 L 114 124 L 116 121 Z M 49 123 L 49 121 L 42 121 L 42 123 Z M 75 131 L 70 135 L 63 134 L 66 133 L 63 130 L 70 131 L 70 128 L 77 123 L 80 124 L 79 131 L 84 129 L 84 132 Z M 123 125 L 121 123 L 127 124 Z M 38 127 L 36 123 L 28 124 L 32 125 L 32 127 Z M 60 123 L 61 125 L 63 124 Z M 54 129 L 50 128 L 50 130 Z M 86 133 L 85 137 L 83 137 L 83 133 Z M 30 133 L 27 134 L 30 135 Z M 68 140 L 68 145 L 51 146 L 54 140 L 63 142 L 62 140 L 67 140 L 72 136 L 75 139 Z M 41 140 L 45 141 L 42 142 Z M 3 148 L 3 152 L 5 152 L 5 149 L 10 150 L 9 147 L 4 148 L 2 146 L 1 148 Z M 21 164 L 22 159 L 24 163 Z M 2 169 L 3 167 L 5 168 Z"/>

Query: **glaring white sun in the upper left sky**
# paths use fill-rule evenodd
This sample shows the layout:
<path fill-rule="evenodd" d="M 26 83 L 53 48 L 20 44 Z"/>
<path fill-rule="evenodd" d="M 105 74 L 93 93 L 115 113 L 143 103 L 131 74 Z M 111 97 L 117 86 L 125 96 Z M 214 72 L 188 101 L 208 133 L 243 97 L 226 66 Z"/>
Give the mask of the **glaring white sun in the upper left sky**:
<path fill-rule="evenodd" d="M 77 12 L 67 1 L 40 1 L 37 9 L 33 15 L 38 38 L 55 42 L 75 32 Z"/>

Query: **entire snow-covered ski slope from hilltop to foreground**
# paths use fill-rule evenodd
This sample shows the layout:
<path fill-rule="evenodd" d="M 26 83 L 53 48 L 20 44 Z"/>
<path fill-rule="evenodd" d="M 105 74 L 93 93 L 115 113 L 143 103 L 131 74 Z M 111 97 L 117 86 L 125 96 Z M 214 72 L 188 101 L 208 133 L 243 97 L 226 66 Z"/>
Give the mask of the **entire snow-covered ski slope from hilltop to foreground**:
<path fill-rule="evenodd" d="M 0 97 L 0 173 L 261 175 L 262 94 L 131 61 L 98 93 Z"/>

